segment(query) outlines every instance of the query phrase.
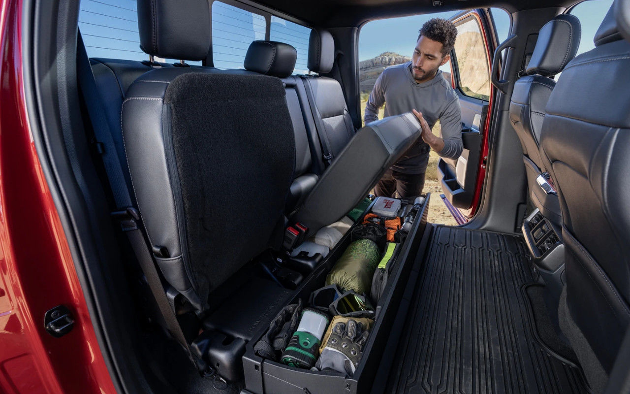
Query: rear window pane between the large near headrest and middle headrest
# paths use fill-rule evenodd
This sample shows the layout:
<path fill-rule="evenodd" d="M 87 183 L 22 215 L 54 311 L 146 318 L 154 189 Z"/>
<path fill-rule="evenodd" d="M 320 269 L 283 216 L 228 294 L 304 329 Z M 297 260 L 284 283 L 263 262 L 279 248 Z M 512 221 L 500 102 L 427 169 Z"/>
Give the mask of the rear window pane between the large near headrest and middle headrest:
<path fill-rule="evenodd" d="M 220 1 L 212 3 L 212 60 L 220 69 L 243 68 L 249 44 L 264 40 L 265 17 Z"/>

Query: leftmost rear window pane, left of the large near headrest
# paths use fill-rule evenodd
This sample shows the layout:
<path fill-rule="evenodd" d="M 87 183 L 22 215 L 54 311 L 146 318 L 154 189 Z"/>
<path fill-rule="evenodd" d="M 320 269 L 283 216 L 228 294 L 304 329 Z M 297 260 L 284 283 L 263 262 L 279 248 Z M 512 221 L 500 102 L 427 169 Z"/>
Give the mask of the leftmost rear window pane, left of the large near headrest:
<path fill-rule="evenodd" d="M 149 55 L 140 49 L 135 0 L 81 0 L 79 29 L 89 57 L 149 60 Z M 160 57 L 156 61 L 180 62 Z M 186 64 L 200 66 L 201 62 L 186 61 Z"/>

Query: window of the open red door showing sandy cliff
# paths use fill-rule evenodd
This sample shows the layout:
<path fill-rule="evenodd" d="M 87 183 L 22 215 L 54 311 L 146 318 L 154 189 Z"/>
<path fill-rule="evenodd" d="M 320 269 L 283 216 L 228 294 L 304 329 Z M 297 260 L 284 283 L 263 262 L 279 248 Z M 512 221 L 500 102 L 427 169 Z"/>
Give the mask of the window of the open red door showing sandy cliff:
<path fill-rule="evenodd" d="M 488 54 L 481 28 L 473 16 L 468 16 L 457 25 L 454 51 L 459 89 L 466 96 L 490 100 Z"/>

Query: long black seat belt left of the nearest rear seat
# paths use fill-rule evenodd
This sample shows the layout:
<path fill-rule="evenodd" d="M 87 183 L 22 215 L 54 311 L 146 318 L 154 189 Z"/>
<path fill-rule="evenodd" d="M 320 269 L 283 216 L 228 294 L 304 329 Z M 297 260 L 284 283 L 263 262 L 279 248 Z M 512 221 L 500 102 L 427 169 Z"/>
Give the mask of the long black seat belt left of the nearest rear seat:
<path fill-rule="evenodd" d="M 186 349 L 191 361 L 197 366 L 195 357 L 190 352 L 188 342 L 186 342 L 184 333 L 181 331 L 180 323 L 175 316 L 175 311 L 171 307 L 171 303 L 169 303 L 166 293 L 164 292 L 164 286 L 157 272 L 153 255 L 142 233 L 140 215 L 135 208 L 131 207 L 132 200 L 129 194 L 129 188 L 127 188 L 122 166 L 120 165 L 120 160 L 118 159 L 116 147 L 112 139 L 112 127 L 108 123 L 105 115 L 103 101 L 101 101 L 100 93 L 96 87 L 96 81 L 89 63 L 88 53 L 83 45 L 81 33 L 79 33 L 77 41 L 77 74 L 79 78 L 79 88 L 83 92 L 83 98 L 88 108 L 89 119 L 92 123 L 94 134 L 98 141 L 103 144 L 104 148 L 102 153 L 103 164 L 105 165 L 105 172 L 110 187 L 112 187 L 114 202 L 117 206 L 117 211 L 113 212 L 112 216 L 118 220 L 122 231 L 127 235 L 129 243 L 134 250 L 135 257 L 149 283 L 151 293 L 153 293 L 161 312 L 161 316 L 158 316 L 158 319 L 161 320 L 159 323 Z"/>

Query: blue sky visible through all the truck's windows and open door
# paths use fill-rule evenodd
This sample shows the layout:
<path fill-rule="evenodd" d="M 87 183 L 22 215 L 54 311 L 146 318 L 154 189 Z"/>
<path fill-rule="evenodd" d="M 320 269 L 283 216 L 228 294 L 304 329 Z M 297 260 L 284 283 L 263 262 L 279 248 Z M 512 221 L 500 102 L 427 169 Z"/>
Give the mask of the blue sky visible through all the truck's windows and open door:
<path fill-rule="evenodd" d="M 582 40 L 578 53 L 593 48 L 593 36 L 612 0 L 589 0 L 576 6 L 582 22 Z M 264 38 L 264 19 L 256 14 L 215 2 L 212 10 L 215 66 L 242 67 L 249 42 Z M 359 34 L 359 59 L 371 59 L 382 52 L 411 55 L 418 30 L 430 18 L 450 18 L 455 12 L 433 13 L 366 23 Z M 507 37 L 510 18 L 502 9 L 493 8 L 495 24 L 502 41 Z M 79 28 L 90 57 L 146 60 L 139 48 L 135 0 L 81 0 Z M 294 45 L 298 52 L 295 72 L 306 72 L 309 29 L 273 17 L 271 38 Z M 189 62 L 195 63 L 195 62 Z"/>

